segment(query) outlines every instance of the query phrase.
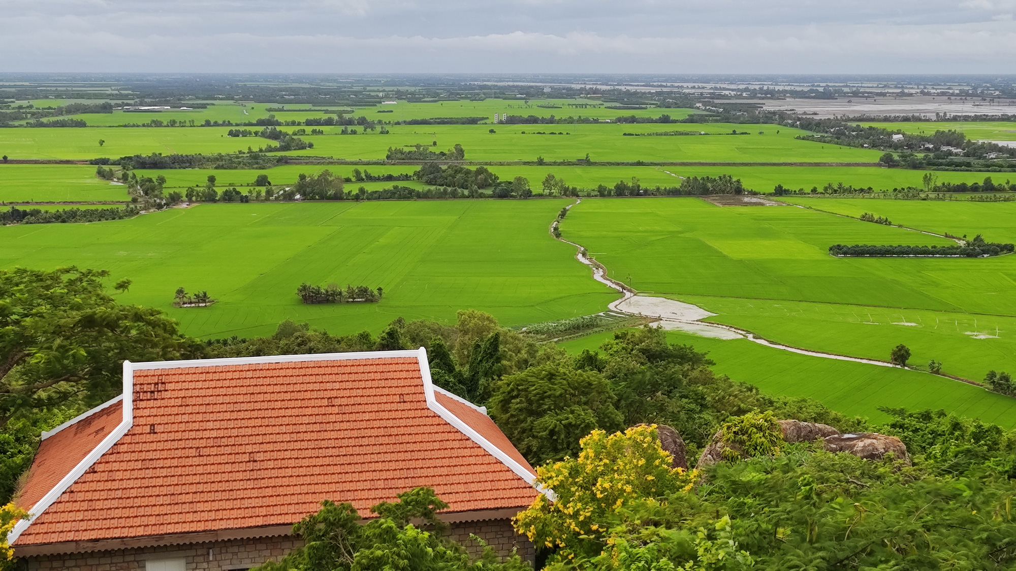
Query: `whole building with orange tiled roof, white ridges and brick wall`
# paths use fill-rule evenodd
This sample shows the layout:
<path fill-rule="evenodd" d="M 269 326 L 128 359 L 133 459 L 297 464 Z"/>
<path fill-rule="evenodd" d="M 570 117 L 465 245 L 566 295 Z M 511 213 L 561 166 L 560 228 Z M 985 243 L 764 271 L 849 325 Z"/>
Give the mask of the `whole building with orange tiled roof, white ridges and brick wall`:
<path fill-rule="evenodd" d="M 29 571 L 237 571 L 299 545 L 322 500 L 362 515 L 428 486 L 453 538 L 533 548 L 534 473 L 424 348 L 125 363 L 124 392 L 44 433 L 10 534 Z"/>

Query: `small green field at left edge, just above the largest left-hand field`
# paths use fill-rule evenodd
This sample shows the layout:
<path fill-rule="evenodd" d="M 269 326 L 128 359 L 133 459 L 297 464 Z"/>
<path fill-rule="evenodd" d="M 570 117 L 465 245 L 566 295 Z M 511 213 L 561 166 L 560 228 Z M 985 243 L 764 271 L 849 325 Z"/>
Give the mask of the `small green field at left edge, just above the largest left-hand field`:
<path fill-rule="evenodd" d="M 127 187 L 97 178 L 91 166 L 0 164 L 0 202 L 128 199 Z"/>

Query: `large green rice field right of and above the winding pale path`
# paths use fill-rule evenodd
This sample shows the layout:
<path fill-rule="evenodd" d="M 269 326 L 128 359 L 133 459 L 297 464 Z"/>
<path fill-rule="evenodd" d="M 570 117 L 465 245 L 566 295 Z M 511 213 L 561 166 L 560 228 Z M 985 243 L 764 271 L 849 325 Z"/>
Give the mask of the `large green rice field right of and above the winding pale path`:
<path fill-rule="evenodd" d="M 938 215 L 957 207 L 968 217 L 954 233 L 963 226 L 961 234 L 973 234 L 966 225 L 975 218 L 987 220 L 976 227 L 990 240 L 1012 233 L 991 232 L 1012 219 L 1008 203 L 838 202 L 858 213 L 884 214 L 883 203 Z M 932 229 L 931 219 L 913 216 L 916 228 Z M 562 232 L 640 292 L 699 305 L 718 314 L 711 321 L 773 341 L 883 361 L 903 342 L 913 364 L 935 359 L 944 372 L 977 380 L 990 369 L 1016 369 L 1016 256 L 833 258 L 826 249 L 835 243 L 952 242 L 810 208 L 697 198 L 583 200 Z"/>

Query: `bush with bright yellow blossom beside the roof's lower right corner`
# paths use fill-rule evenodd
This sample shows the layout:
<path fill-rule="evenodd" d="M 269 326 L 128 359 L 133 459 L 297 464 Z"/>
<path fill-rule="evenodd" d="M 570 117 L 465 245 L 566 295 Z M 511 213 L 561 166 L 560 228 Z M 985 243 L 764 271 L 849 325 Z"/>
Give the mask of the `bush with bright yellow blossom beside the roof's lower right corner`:
<path fill-rule="evenodd" d="M 577 458 L 536 468 L 538 482 L 553 490 L 515 518 L 515 529 L 536 546 L 559 548 L 558 558 L 599 554 L 619 512 L 635 504 L 665 504 L 668 497 L 694 486 L 694 470 L 673 468 L 656 426 L 638 426 L 582 439 Z"/>

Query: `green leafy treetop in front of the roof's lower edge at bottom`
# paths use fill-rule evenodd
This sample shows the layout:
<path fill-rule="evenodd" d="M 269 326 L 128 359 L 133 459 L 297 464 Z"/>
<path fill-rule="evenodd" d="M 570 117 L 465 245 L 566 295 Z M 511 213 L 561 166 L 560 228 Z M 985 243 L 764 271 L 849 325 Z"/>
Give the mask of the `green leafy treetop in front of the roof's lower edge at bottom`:
<path fill-rule="evenodd" d="M 321 502 L 321 509 L 293 526 L 304 541 L 279 562 L 268 561 L 259 571 L 522 571 L 528 566 L 517 555 L 498 561 L 490 548 L 470 561 L 465 550 L 442 536 L 437 511 L 448 507 L 430 488 L 398 495 L 398 502 L 371 508 L 377 517 L 361 523 L 348 503 Z"/>

